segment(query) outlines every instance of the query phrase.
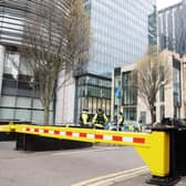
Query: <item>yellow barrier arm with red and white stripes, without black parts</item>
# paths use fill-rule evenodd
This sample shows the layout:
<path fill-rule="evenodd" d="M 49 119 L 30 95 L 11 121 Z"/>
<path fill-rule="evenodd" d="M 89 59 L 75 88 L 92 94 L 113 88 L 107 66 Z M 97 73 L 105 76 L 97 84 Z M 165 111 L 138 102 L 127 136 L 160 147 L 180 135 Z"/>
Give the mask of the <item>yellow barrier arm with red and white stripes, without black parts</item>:
<path fill-rule="evenodd" d="M 152 175 L 165 177 L 169 174 L 169 134 L 166 132 L 130 133 L 23 124 L 10 124 L 2 127 L 3 131 L 42 137 L 134 146 L 149 167 Z"/>

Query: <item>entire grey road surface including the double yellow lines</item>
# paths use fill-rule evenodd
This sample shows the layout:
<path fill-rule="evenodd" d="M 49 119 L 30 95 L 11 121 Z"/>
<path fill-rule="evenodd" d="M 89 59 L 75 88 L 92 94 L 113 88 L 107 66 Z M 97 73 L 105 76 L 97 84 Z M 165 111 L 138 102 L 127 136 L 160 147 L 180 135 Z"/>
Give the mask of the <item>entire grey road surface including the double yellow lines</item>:
<path fill-rule="evenodd" d="M 0 143 L 0 186 L 51 186 L 53 182 L 55 182 L 54 185 L 56 186 L 61 185 L 61 180 L 63 180 L 62 185 L 71 186 L 149 186 L 146 184 L 146 179 L 151 177 L 149 169 L 146 166 L 142 166 L 144 164 L 140 162 L 138 156 L 135 156 L 130 147 L 124 149 L 117 147 L 97 147 L 91 151 L 38 153 L 12 151 L 14 143 Z M 118 161 L 111 162 L 115 157 L 116 152 Z M 110 154 L 110 156 L 105 156 L 106 154 Z M 101 158 L 102 156 L 103 158 Z M 128 158 L 127 162 L 123 163 L 122 159 L 128 156 L 133 158 Z M 90 159 L 92 164 L 90 164 Z M 124 166 L 122 163 L 125 165 L 125 170 L 123 170 Z M 100 169 L 97 169 L 97 165 Z M 105 170 L 113 168 L 113 173 Z M 28 175 L 30 176 L 28 177 Z M 97 175 L 103 176 L 96 177 Z M 75 178 L 71 183 L 76 184 L 65 183 L 64 180 L 70 182 L 68 176 L 72 179 L 78 177 L 79 182 L 83 182 L 79 183 Z M 87 179 L 87 177 L 94 178 Z M 186 177 L 183 177 L 176 186 L 186 186 Z"/>

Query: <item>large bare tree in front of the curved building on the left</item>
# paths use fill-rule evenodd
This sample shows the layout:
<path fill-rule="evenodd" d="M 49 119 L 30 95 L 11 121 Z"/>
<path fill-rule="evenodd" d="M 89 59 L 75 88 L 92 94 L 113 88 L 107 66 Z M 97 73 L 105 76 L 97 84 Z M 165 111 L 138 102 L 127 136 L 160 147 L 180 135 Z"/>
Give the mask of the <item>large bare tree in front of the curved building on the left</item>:
<path fill-rule="evenodd" d="M 48 125 L 59 73 L 71 73 L 87 61 L 89 17 L 82 0 L 38 0 L 28 12 L 20 51 L 30 59 Z"/>

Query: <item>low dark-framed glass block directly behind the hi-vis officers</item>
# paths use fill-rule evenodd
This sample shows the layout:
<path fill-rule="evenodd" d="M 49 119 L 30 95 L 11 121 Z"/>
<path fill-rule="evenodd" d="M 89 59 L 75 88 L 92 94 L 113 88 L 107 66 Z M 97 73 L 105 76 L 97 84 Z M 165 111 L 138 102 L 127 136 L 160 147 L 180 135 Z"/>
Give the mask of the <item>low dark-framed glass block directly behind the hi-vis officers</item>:
<path fill-rule="evenodd" d="M 89 108 L 90 116 L 102 108 L 111 116 L 111 79 L 94 74 L 81 75 L 78 79 L 78 112 Z"/>

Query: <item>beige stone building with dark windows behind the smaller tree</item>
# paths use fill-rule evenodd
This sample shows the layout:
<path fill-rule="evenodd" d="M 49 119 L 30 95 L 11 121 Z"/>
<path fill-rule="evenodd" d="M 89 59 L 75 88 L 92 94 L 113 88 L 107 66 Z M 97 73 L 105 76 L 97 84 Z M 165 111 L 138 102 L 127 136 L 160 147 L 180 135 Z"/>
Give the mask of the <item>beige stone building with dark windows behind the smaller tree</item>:
<path fill-rule="evenodd" d="M 184 71 L 185 64 L 178 54 L 168 52 L 168 65 L 170 81 L 162 85 L 154 108 L 153 121 L 159 123 L 164 117 L 185 118 L 185 92 Z M 117 110 L 124 113 L 126 123 L 131 121 L 151 123 L 151 113 L 143 100 L 137 95 L 131 83 L 131 73 L 135 64 L 115 69 L 113 72 L 112 90 L 112 117 L 116 116 Z M 121 89 L 121 96 L 117 96 L 116 89 Z"/>

